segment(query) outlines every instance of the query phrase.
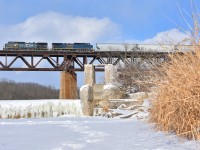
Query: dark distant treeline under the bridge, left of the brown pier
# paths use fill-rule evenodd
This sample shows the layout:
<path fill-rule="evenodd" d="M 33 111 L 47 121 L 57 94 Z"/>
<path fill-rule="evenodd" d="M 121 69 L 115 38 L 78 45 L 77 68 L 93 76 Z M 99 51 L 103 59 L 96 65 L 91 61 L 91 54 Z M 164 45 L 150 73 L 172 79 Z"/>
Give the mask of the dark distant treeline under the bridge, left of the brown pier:
<path fill-rule="evenodd" d="M 37 83 L 0 80 L 0 100 L 58 99 L 59 90 Z"/>

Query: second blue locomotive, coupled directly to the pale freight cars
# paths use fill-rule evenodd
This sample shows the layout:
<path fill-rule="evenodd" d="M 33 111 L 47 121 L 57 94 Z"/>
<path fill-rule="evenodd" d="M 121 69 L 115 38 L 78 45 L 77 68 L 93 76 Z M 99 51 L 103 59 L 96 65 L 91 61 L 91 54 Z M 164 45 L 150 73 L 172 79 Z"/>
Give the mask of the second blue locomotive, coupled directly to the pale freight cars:
<path fill-rule="evenodd" d="M 90 43 L 52 43 L 52 50 L 93 51 Z"/>

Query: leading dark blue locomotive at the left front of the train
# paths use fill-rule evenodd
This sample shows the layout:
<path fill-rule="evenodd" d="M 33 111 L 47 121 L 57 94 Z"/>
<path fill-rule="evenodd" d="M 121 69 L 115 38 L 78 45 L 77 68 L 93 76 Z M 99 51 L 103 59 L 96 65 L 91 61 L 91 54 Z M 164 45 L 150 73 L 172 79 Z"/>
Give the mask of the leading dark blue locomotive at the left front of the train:
<path fill-rule="evenodd" d="M 26 42 L 12 42 L 5 44 L 3 50 L 48 50 L 47 43 L 26 43 Z"/>

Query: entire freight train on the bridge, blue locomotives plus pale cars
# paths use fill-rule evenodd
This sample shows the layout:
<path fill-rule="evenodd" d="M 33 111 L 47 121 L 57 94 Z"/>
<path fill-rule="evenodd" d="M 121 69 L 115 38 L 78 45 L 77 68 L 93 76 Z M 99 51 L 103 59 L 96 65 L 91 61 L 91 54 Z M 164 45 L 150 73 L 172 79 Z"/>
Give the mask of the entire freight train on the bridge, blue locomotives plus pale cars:
<path fill-rule="evenodd" d="M 78 52 L 93 52 L 93 45 L 90 43 L 52 43 L 51 48 L 48 43 L 42 42 L 8 42 L 5 44 L 3 50 L 54 50 L 54 51 L 78 51 Z M 192 51 L 190 45 L 159 45 L 159 44 L 129 44 L 129 43 L 97 43 L 95 51 L 142 51 L 142 52 L 174 52 L 174 51 Z"/>

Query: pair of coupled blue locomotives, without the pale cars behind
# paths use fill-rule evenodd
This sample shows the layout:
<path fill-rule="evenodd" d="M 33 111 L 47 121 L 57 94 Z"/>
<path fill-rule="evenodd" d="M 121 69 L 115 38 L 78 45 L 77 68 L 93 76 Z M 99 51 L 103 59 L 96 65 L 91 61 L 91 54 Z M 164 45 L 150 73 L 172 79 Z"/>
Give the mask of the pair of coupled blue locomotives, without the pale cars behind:
<path fill-rule="evenodd" d="M 12 42 L 5 44 L 3 50 L 81 50 L 93 51 L 93 45 L 90 43 L 52 43 L 51 49 L 48 49 L 48 43 L 35 42 Z"/>

